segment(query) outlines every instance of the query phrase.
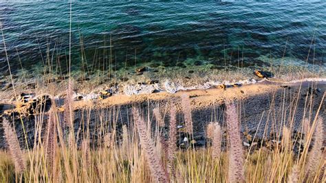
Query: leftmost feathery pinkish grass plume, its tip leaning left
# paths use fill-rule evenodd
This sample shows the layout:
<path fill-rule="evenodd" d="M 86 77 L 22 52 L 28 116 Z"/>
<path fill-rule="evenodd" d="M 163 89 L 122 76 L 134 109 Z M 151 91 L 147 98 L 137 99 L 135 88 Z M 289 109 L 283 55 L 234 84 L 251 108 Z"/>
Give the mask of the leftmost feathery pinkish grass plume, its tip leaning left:
<path fill-rule="evenodd" d="M 22 173 L 25 170 L 26 165 L 23 158 L 23 153 L 19 147 L 16 132 L 10 126 L 9 121 L 6 118 L 2 119 L 3 131 L 8 142 L 8 148 L 12 156 L 12 160 L 14 160 L 14 167 L 16 168 L 17 172 Z"/>

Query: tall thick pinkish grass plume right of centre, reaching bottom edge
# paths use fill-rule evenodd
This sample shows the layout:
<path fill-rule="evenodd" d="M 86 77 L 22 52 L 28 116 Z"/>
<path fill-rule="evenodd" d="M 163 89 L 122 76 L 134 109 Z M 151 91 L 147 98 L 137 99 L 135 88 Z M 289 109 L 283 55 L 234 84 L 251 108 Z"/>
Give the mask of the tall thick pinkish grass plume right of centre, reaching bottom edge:
<path fill-rule="evenodd" d="M 230 143 L 228 182 L 241 182 L 244 180 L 244 159 L 235 103 L 226 103 L 226 124 L 228 126 L 228 142 Z"/>

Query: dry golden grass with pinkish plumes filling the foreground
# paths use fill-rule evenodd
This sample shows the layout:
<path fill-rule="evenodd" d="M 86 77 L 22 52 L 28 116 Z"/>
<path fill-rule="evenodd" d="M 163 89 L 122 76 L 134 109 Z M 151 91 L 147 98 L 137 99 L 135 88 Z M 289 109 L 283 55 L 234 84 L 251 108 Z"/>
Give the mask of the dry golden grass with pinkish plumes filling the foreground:
<path fill-rule="evenodd" d="M 19 147 L 10 117 L 3 117 L 8 149 L 1 151 L 3 182 L 325 182 L 322 114 L 301 122 L 301 136 L 292 136 L 291 116 L 273 137 L 273 146 L 263 141 L 243 147 L 236 101 L 226 101 L 226 120 L 206 127 L 208 142 L 195 147 L 190 98 L 181 96 L 183 120 L 177 120 L 177 101 L 169 112 L 157 105 L 144 113 L 138 104 L 132 118 L 118 123 L 120 111 L 85 109 L 84 128 L 74 130 L 74 103 L 67 87 L 65 111 L 56 106 L 35 115 L 34 147 Z M 325 94 L 324 96 L 325 97 Z M 323 100 L 322 100 L 323 101 Z M 309 102 L 309 101 L 308 101 Z M 272 110 L 272 109 L 270 109 Z M 309 110 L 307 110 L 309 111 Z M 90 138 L 91 112 L 98 115 L 96 140 Z M 107 114 L 105 114 L 107 113 Z M 153 114 L 153 116 L 150 116 Z M 109 118 L 105 116 L 110 116 Z M 307 114 L 310 116 L 310 114 Z M 288 118 L 288 119 L 287 119 Z M 224 127 L 221 124 L 226 124 Z M 184 127 L 177 127 L 184 125 Z M 167 127 L 166 127 L 167 126 Z M 268 127 L 265 127 L 267 131 Z M 227 133 L 223 133 L 226 129 Z M 268 135 L 263 133 L 263 138 Z M 181 135 L 184 134 L 184 137 Z M 182 136 L 182 138 L 180 138 Z M 182 145 L 177 145 L 177 141 Z M 226 142 L 226 145 L 222 142 Z M 27 141 L 25 143 L 28 143 Z M 299 144 L 299 152 L 294 147 Z M 301 149 L 301 150 L 300 150 Z"/>

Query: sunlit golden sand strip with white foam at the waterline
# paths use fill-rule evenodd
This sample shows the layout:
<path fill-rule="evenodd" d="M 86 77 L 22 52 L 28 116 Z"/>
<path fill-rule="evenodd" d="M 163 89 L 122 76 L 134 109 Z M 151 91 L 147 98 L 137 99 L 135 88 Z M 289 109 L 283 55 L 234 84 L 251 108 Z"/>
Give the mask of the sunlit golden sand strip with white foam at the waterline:
<path fill-rule="evenodd" d="M 210 96 L 210 95 L 218 95 L 221 96 L 220 98 L 224 98 L 228 100 L 230 98 L 246 98 L 248 96 L 253 96 L 254 94 L 265 94 L 265 92 L 270 91 L 270 89 L 277 89 L 282 85 L 290 85 L 290 86 L 299 86 L 299 85 L 309 85 L 310 83 L 318 83 L 319 85 L 326 85 L 326 78 L 303 78 L 300 80 L 290 80 L 290 81 L 276 81 L 270 78 L 261 78 L 260 80 L 240 80 L 239 82 L 230 83 L 228 81 L 224 81 L 222 83 L 219 82 L 208 82 L 204 83 L 204 85 L 193 86 L 193 87 L 181 87 L 176 88 L 175 90 L 164 90 L 161 89 L 157 92 L 140 92 L 138 94 L 110 94 L 107 98 L 100 98 L 100 94 L 94 94 L 90 92 L 89 94 L 78 94 L 74 93 L 74 107 L 76 109 L 81 109 L 83 107 L 96 107 L 96 105 L 104 105 L 104 106 L 111 106 L 111 105 L 124 105 L 128 103 L 139 103 L 144 102 L 144 100 L 164 100 L 166 98 L 176 98 L 180 97 L 182 94 L 188 94 L 189 96 L 199 97 L 199 96 Z M 221 88 L 221 85 L 224 85 L 224 88 Z M 137 86 L 137 85 L 136 85 Z M 205 86 L 206 88 L 201 88 L 201 86 Z M 130 87 L 130 86 L 129 86 Z M 135 85 L 133 85 L 135 87 Z M 150 87 L 150 88 L 157 88 L 157 83 L 152 85 L 138 85 L 140 88 Z M 224 91 L 228 90 L 228 92 L 234 92 L 236 95 L 232 94 L 224 94 Z M 258 92 L 257 92 L 258 91 Z M 62 93 L 65 93 L 62 92 Z M 245 94 L 246 93 L 246 94 Z M 109 94 L 109 93 L 108 93 Z M 48 93 L 43 93 L 38 96 L 52 96 Z M 58 96 L 52 96 L 54 100 L 57 101 L 57 105 L 63 105 L 64 98 L 61 97 L 62 94 Z M 76 100 L 76 98 L 80 97 L 81 99 Z M 37 98 L 37 96 L 34 96 Z M 8 99 L 7 99 L 8 100 Z M 97 103 L 97 104 L 95 104 Z M 16 102 L 8 102 L 3 101 L 0 102 L 1 105 L 15 105 Z M 3 110 L 2 110 L 3 111 Z"/>

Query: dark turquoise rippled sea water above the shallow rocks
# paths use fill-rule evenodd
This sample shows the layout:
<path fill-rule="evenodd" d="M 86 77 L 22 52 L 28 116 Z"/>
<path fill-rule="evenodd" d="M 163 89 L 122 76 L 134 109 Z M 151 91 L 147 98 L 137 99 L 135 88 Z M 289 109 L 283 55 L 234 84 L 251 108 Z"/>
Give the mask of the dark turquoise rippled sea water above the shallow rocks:
<path fill-rule="evenodd" d="M 68 2 L 1 1 L 0 21 L 13 71 L 21 67 L 19 59 L 26 69 L 50 61 L 67 71 Z M 325 48 L 326 1 L 72 3 L 73 69 L 86 63 L 92 69 L 185 67 L 189 60 L 219 68 L 239 66 L 239 58 L 243 67 L 268 65 L 261 56 L 300 64 L 308 53 L 309 63 L 325 65 Z"/>

